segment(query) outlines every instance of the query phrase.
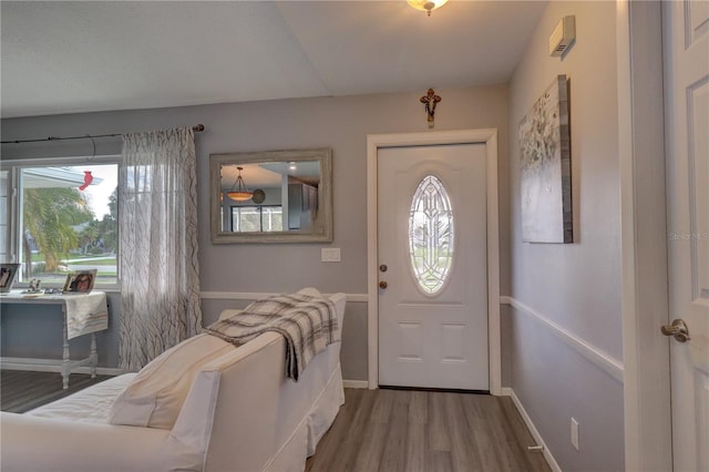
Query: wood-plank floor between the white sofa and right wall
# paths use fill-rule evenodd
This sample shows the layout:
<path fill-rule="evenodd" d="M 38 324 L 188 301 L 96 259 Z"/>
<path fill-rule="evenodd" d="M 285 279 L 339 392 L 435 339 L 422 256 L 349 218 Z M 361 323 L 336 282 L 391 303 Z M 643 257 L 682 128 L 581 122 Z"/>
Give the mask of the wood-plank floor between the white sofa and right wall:
<path fill-rule="evenodd" d="M 512 399 L 346 389 L 307 472 L 549 471 Z"/>

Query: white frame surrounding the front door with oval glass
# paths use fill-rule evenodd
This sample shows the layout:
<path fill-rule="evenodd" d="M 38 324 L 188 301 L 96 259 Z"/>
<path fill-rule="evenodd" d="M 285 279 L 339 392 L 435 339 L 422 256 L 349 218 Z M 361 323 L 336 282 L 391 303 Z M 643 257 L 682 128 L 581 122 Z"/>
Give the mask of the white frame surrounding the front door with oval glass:
<path fill-rule="evenodd" d="M 367 330 L 369 389 L 379 388 L 378 151 L 391 146 L 484 144 L 487 193 L 487 341 L 490 393 L 502 394 L 500 340 L 500 209 L 497 130 L 429 131 L 367 135 Z"/>

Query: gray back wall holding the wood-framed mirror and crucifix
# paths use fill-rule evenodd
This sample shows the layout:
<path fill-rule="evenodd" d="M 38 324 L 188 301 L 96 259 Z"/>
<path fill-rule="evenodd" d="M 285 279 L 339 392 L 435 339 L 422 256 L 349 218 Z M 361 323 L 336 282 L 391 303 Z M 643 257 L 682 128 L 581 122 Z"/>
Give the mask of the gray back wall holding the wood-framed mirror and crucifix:
<path fill-rule="evenodd" d="M 325 293 L 367 289 L 367 134 L 428 130 L 419 98 L 425 91 L 348 98 L 279 100 L 237 104 L 88 113 L 2 120 L 2 138 L 123 133 L 203 123 L 195 140 L 198 157 L 199 261 L 202 291 L 289 291 L 315 286 Z M 500 143 L 502 293 L 510 287 L 507 218 L 507 89 L 505 85 L 436 89 L 435 130 L 496 127 Z M 119 140 L 97 140 L 97 154 L 120 152 Z M 332 147 L 335 240 L 331 245 L 213 245 L 209 239 L 208 155 L 284 148 Z M 3 145 L 2 158 L 86 155 L 90 142 Z M 320 263 L 325 246 L 341 248 L 342 261 Z M 245 301 L 204 299 L 205 324 L 220 309 Z M 115 331 L 117 305 L 111 310 Z M 115 367 L 114 346 L 102 365 Z M 343 329 L 342 368 L 349 380 L 367 379 L 367 305 L 349 304 Z M 110 363 L 106 363 L 110 362 Z"/>

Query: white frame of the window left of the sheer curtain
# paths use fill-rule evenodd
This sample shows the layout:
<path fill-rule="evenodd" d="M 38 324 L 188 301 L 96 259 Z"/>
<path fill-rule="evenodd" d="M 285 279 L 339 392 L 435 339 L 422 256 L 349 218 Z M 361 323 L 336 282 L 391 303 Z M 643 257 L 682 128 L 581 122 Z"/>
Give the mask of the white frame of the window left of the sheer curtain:
<path fill-rule="evenodd" d="M 117 174 L 120 176 L 123 161 L 120 154 L 110 154 L 102 156 L 70 156 L 70 157 L 37 157 L 37 158 L 19 158 L 19 160 L 2 160 L 0 161 L 0 172 L 8 171 L 8 226 L 7 226 L 7 240 L 8 240 L 8 255 L 9 260 L 7 263 L 19 263 L 20 258 L 20 237 L 22 228 L 20 227 L 21 212 L 22 212 L 22 195 L 20 192 L 20 171 L 28 167 L 61 167 L 61 166 L 78 166 L 78 165 L 101 165 L 101 164 L 116 164 Z M 121 218 L 119 212 L 119 220 Z M 101 284 L 95 286 L 94 289 L 101 291 L 120 291 L 121 290 L 121 238 L 120 238 L 120 224 L 119 228 L 119 247 L 116 252 L 116 281 L 114 284 Z M 29 286 L 27 280 L 17 280 L 14 287 L 25 288 Z M 63 284 L 48 283 L 42 284 L 45 288 L 62 288 Z"/>

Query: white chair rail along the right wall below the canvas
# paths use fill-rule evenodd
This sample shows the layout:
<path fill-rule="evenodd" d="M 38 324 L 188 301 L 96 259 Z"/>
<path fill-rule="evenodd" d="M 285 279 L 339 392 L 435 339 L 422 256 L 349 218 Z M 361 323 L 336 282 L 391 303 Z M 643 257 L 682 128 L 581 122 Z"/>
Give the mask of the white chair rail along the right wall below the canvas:
<path fill-rule="evenodd" d="M 618 359 L 615 359 L 608 353 L 598 349 L 597 347 L 589 345 L 588 342 L 578 338 L 574 334 L 562 328 L 554 321 L 549 320 L 545 316 L 541 315 L 533 308 L 524 305 L 520 300 L 515 300 L 512 297 L 503 296 L 503 297 L 500 297 L 500 304 L 510 305 L 521 314 L 526 315 L 534 321 L 541 324 L 543 327 L 547 328 L 554 336 L 561 339 L 568 347 L 574 349 L 576 352 L 582 355 L 584 358 L 593 362 L 598 368 L 603 369 L 606 373 L 608 373 L 610 377 L 616 379 L 618 382 L 623 383 L 624 367 L 623 367 L 623 362 L 619 361 Z"/>

